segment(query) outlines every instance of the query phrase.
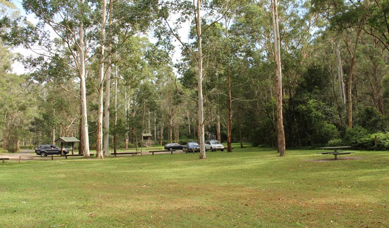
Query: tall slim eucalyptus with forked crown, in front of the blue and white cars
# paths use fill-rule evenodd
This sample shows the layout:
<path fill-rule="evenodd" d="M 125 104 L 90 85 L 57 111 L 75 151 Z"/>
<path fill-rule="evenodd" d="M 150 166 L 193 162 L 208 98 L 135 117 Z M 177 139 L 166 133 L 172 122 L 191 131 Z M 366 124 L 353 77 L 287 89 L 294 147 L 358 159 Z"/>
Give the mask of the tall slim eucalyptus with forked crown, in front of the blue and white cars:
<path fill-rule="evenodd" d="M 228 5 L 230 1 L 225 1 Z M 232 0 L 231 2 L 236 2 Z M 219 1 L 161 1 L 161 14 L 164 18 L 167 32 L 163 35 L 175 37 L 182 46 L 185 52 L 190 53 L 191 59 L 196 63 L 197 74 L 197 106 L 198 106 L 198 136 L 200 145 L 200 159 L 206 159 L 205 155 L 205 134 L 204 134 L 204 98 L 203 98 L 203 78 L 206 71 L 203 69 L 204 54 L 203 54 L 203 36 L 204 33 L 215 23 L 218 23 L 224 18 L 227 13 L 227 8 L 217 6 Z M 220 2 L 222 4 L 222 2 Z M 174 17 L 179 17 L 174 19 Z M 194 27 L 193 36 L 194 44 L 190 44 L 183 40 L 178 33 L 179 29 L 188 22 L 192 21 Z M 174 22 L 172 22 L 174 21 Z M 163 32 L 161 32 L 163 33 Z M 161 34 L 160 33 L 160 34 Z M 164 36 L 166 37 L 166 36 Z"/>

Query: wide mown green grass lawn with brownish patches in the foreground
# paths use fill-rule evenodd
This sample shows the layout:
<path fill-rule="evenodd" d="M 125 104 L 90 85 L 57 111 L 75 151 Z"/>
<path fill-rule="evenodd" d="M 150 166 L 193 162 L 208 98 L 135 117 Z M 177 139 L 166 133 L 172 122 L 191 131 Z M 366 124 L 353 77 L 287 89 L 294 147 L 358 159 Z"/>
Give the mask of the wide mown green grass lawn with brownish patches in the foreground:
<path fill-rule="evenodd" d="M 387 151 L 234 148 L 0 163 L 0 227 L 389 227 Z"/>

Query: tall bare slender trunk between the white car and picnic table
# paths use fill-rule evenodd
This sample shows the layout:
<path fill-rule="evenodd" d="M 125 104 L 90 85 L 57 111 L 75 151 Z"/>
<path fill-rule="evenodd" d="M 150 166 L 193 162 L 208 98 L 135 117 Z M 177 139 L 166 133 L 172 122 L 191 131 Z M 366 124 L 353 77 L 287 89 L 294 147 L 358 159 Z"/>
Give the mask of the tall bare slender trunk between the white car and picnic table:
<path fill-rule="evenodd" d="M 275 93 L 277 103 L 277 145 L 280 157 L 285 156 L 285 133 L 282 117 L 282 73 L 280 40 L 278 28 L 277 0 L 272 0 L 273 28 L 274 28 L 274 63 L 275 63 Z"/>

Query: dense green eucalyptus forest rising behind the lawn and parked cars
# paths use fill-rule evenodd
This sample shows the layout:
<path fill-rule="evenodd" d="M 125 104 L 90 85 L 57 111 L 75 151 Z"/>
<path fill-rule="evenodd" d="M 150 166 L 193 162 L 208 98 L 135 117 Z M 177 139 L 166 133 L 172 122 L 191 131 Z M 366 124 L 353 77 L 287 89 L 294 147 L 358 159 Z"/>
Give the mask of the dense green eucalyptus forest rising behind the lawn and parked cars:
<path fill-rule="evenodd" d="M 277 147 L 279 116 L 287 149 L 389 149 L 389 1 L 16 2 L 0 0 L 8 151 L 67 136 L 102 158 L 145 133 Z"/>

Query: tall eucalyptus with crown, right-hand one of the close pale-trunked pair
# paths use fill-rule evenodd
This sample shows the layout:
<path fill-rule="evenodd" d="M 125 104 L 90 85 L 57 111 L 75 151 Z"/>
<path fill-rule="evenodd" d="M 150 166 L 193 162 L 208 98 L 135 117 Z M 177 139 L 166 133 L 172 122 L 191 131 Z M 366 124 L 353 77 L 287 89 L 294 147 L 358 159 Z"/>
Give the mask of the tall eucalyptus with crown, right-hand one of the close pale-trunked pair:
<path fill-rule="evenodd" d="M 109 12 L 108 25 L 105 24 L 105 35 L 101 35 L 102 48 L 107 51 L 102 56 L 102 63 L 106 64 L 101 83 L 105 82 L 105 103 L 104 103 L 104 131 L 103 131 L 103 150 L 104 155 L 109 155 L 109 133 L 110 133 L 110 98 L 111 98 L 111 69 L 112 64 L 117 64 L 118 60 L 113 61 L 113 56 L 120 55 L 117 52 L 123 50 L 127 40 L 138 34 L 145 34 L 150 29 L 150 24 L 156 18 L 157 0 L 132 0 L 132 1 L 109 1 L 107 10 Z M 102 8 L 102 10 L 104 10 Z M 103 22 L 101 18 L 101 22 Z M 101 23 L 101 32 L 102 32 Z M 130 56 L 128 56 L 130 57 Z M 120 65 L 120 64 L 119 64 Z M 104 67 L 102 67 L 104 68 Z M 119 69 L 120 71 L 120 69 Z M 101 85 L 102 86 L 102 85 Z M 115 91 L 116 92 L 116 91 Z M 102 103 L 100 103 L 102 105 Z M 100 108 L 101 109 L 101 108 Z M 99 119 L 102 120 L 102 113 Z M 99 126 L 102 128 L 102 126 Z M 102 130 L 99 130 L 102 133 Z"/>

